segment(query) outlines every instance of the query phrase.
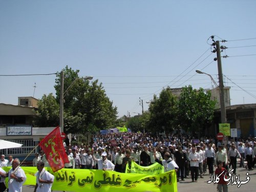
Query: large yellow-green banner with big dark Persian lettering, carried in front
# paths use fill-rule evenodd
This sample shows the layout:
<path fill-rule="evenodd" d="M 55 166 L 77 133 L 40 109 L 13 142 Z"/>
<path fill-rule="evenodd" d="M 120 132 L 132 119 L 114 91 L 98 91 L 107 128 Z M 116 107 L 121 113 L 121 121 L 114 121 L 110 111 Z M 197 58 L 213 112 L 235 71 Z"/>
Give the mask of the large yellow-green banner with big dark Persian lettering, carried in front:
<path fill-rule="evenodd" d="M 3 167 L 6 172 L 11 167 Z M 24 185 L 35 185 L 36 167 L 22 167 L 27 180 Z M 46 169 L 54 175 L 52 190 L 67 191 L 174 191 L 177 192 L 177 178 L 175 170 L 158 175 L 136 173 L 118 173 L 95 169 L 60 169 L 53 173 L 50 167 Z M 8 178 L 6 178 L 8 182 Z"/>

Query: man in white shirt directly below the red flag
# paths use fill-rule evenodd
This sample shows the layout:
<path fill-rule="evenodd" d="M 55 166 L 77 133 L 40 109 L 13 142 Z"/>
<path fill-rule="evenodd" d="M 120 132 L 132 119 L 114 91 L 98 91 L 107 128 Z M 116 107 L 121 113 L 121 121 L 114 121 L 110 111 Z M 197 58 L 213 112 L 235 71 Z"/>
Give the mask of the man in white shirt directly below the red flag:
<path fill-rule="evenodd" d="M 45 163 L 39 161 L 37 163 L 36 172 L 36 185 L 34 192 L 51 192 L 52 183 L 54 181 L 54 176 L 50 174 L 45 168 Z"/>

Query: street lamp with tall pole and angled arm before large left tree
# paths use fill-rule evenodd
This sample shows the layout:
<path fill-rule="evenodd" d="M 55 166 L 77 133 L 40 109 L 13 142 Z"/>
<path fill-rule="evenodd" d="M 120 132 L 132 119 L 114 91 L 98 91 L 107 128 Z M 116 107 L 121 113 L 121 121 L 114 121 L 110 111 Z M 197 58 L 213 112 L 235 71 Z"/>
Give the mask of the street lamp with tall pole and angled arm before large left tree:
<path fill-rule="evenodd" d="M 63 121 L 63 98 L 66 96 L 69 89 L 73 86 L 74 82 L 79 79 L 76 78 L 64 92 L 64 74 L 63 71 L 60 72 L 60 100 L 59 100 L 59 126 L 61 127 L 61 133 L 64 132 L 64 121 Z M 92 80 L 93 76 L 86 76 L 84 80 Z"/>

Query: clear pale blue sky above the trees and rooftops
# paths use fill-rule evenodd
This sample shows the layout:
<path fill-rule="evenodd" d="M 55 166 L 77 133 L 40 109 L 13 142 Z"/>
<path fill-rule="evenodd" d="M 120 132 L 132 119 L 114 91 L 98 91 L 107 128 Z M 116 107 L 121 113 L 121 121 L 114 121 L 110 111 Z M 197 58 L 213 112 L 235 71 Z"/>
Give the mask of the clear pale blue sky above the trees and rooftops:
<path fill-rule="evenodd" d="M 218 83 L 216 53 L 207 51 L 207 39 L 217 35 L 228 40 L 222 55 L 236 56 L 222 58 L 231 104 L 256 103 L 255 9 L 254 0 L 2 0 L 0 75 L 55 73 L 68 65 L 99 79 L 119 116 L 134 116 L 142 110 L 139 97 L 147 110 L 167 84 L 210 88 L 196 69 Z M 35 98 L 55 94 L 55 75 L 0 76 L 0 103 L 33 96 L 34 83 Z"/>

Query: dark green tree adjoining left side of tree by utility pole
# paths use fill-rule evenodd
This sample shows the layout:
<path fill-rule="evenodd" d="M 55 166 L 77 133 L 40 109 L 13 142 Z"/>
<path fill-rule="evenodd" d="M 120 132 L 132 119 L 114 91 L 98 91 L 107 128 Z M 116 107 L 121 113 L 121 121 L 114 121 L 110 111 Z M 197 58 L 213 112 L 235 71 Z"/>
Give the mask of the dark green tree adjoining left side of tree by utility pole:
<path fill-rule="evenodd" d="M 176 128 L 177 97 L 169 87 L 163 89 L 159 97 L 154 95 L 148 111 L 150 112 L 148 129 L 152 133 L 162 131 L 170 132 Z"/>

